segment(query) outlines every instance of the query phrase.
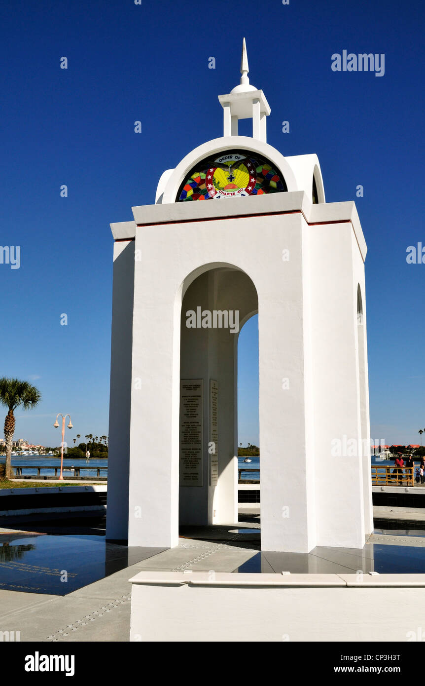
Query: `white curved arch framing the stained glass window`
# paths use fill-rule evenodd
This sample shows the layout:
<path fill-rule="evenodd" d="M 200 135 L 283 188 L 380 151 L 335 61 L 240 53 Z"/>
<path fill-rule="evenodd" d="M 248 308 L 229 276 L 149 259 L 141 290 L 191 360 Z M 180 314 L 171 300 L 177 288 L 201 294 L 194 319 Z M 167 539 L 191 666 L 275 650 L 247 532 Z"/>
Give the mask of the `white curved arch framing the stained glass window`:
<path fill-rule="evenodd" d="M 168 171 L 170 170 L 167 170 L 167 173 L 162 174 L 160 179 L 161 187 L 158 185 L 158 190 L 156 191 L 156 197 L 158 198 L 157 202 L 162 202 L 163 204 L 175 202 L 178 189 L 180 188 L 180 185 L 182 185 L 186 174 L 191 171 L 197 162 L 202 161 L 212 154 L 218 154 L 230 149 L 236 150 L 238 148 L 257 152 L 274 163 L 281 172 L 288 191 L 302 190 L 298 187 L 295 175 L 291 166 L 288 164 L 287 159 L 284 158 L 275 147 L 247 136 L 227 136 L 215 138 L 212 141 L 207 141 L 207 143 L 195 147 L 194 150 L 189 152 L 189 154 L 182 159 L 180 164 L 178 164 L 170 174 L 168 174 Z"/>

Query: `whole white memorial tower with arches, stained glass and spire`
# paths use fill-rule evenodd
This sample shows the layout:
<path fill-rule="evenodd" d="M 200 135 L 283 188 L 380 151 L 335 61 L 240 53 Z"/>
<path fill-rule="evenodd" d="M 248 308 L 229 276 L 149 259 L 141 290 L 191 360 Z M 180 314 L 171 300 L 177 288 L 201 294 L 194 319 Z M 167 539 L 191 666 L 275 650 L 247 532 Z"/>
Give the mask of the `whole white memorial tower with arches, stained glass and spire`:
<path fill-rule="evenodd" d="M 354 202 L 326 204 L 315 154 L 267 144 L 245 40 L 241 74 L 219 96 L 223 137 L 165 171 L 156 204 L 111 224 L 107 536 L 173 547 L 179 521 L 237 522 L 236 316 L 240 329 L 258 312 L 261 547 L 361 548 L 365 239 Z"/>

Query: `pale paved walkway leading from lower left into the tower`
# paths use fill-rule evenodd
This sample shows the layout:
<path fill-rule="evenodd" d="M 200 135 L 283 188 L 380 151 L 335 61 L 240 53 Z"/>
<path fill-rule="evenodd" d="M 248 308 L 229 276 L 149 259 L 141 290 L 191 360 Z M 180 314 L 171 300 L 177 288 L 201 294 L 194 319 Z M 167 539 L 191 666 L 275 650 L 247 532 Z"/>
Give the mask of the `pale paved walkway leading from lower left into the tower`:
<path fill-rule="evenodd" d="M 173 549 L 146 548 L 141 562 L 68 595 L 0 589 L 0 631 L 19 631 L 21 641 L 128 641 L 128 580 L 136 573 L 143 569 L 234 571 L 257 552 L 226 543 L 180 539 Z"/>

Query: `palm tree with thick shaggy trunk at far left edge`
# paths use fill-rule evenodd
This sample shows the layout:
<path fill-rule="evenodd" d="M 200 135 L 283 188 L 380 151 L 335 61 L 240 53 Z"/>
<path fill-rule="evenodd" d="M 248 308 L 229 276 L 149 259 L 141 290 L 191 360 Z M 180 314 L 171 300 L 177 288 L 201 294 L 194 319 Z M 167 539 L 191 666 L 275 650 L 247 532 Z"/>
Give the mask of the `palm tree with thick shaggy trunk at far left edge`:
<path fill-rule="evenodd" d="M 4 423 L 4 438 L 6 442 L 6 463 L 5 463 L 5 477 L 10 479 L 10 454 L 12 453 L 12 441 L 15 431 L 15 417 L 14 410 L 21 406 L 23 410 L 30 410 L 35 407 L 40 401 L 41 394 L 38 388 L 32 386 L 28 381 L 19 381 L 19 379 L 8 379 L 1 377 L 0 379 L 0 403 L 8 407 L 9 412 L 6 414 Z"/>

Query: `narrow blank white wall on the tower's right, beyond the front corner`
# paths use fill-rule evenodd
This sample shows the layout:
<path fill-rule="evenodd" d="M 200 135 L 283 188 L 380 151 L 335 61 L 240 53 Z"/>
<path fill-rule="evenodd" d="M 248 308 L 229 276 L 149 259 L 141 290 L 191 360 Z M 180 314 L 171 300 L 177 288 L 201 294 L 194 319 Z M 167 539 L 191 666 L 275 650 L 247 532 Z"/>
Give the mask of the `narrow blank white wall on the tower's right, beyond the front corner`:
<path fill-rule="evenodd" d="M 359 249 L 354 248 L 349 223 L 311 226 L 310 244 L 317 545 L 363 547 L 366 531 L 353 254 Z M 340 441 L 343 454 L 332 456 L 332 441 Z"/>

